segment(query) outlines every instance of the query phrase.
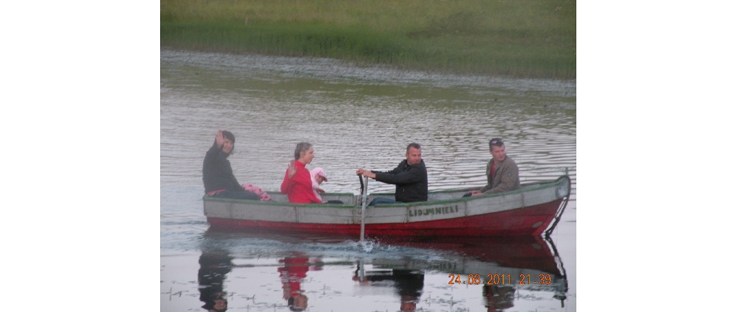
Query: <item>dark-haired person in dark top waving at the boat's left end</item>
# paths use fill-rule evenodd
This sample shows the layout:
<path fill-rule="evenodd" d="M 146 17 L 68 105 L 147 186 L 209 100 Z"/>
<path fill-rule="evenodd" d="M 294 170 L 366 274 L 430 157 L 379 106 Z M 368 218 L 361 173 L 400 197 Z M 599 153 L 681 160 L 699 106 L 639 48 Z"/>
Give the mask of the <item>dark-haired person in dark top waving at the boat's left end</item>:
<path fill-rule="evenodd" d="M 228 156 L 233 153 L 235 135 L 230 131 L 217 130 L 215 142 L 205 154 L 202 164 L 202 182 L 205 193 L 214 197 L 259 200 L 259 195 L 245 191 L 233 175 Z"/>

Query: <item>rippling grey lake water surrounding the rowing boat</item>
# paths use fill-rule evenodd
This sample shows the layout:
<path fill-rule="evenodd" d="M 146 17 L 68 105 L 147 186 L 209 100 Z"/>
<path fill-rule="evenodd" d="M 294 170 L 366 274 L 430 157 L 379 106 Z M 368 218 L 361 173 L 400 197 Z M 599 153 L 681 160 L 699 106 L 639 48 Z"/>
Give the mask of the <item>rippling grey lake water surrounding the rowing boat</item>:
<path fill-rule="evenodd" d="M 201 170 L 218 129 L 236 137 L 239 182 L 268 191 L 300 141 L 313 144 L 308 168 L 325 169 L 328 192 L 358 194 L 356 169 L 393 169 L 411 142 L 430 191 L 480 187 L 499 137 L 522 182 L 567 169 L 571 201 L 548 240 L 217 232 L 203 216 Z M 469 274 L 492 285 L 464 284 Z M 315 312 L 576 311 L 576 82 L 162 49 L 161 311 L 206 311 L 218 296 L 228 311 L 290 311 L 284 298 L 296 293 Z"/>

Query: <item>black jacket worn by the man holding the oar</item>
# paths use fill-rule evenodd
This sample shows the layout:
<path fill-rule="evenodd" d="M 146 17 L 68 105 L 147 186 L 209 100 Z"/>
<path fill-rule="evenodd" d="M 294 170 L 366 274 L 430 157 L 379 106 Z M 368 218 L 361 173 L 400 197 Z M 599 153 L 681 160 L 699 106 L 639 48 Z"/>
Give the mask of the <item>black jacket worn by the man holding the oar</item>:
<path fill-rule="evenodd" d="M 394 199 L 397 202 L 427 202 L 427 169 L 425 160 L 407 166 L 407 160 L 402 160 L 392 171 L 371 171 L 376 174 L 376 180 L 397 185 Z"/>

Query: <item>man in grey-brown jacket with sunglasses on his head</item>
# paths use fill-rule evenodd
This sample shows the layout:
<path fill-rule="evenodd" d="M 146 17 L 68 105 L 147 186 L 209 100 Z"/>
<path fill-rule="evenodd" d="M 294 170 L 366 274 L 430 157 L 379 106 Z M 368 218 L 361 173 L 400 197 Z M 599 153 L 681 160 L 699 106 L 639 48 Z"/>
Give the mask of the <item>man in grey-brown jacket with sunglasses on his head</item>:
<path fill-rule="evenodd" d="M 478 191 L 470 191 L 466 196 L 500 193 L 520 188 L 520 169 L 517 163 L 507 157 L 504 142 L 500 138 L 489 141 L 492 160 L 486 165 L 486 185 Z"/>

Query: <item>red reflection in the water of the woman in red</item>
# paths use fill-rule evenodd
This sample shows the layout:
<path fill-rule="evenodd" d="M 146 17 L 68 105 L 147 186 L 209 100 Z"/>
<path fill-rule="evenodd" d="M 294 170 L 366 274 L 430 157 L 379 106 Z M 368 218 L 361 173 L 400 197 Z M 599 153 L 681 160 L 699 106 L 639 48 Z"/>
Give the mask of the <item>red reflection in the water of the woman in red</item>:
<path fill-rule="evenodd" d="M 290 311 L 304 311 L 307 309 L 308 298 L 301 289 L 301 283 L 307 277 L 307 271 L 310 271 L 310 258 L 287 257 L 279 260 L 279 263 L 284 263 L 284 266 L 277 269 L 282 278 L 283 298 L 287 300 Z M 312 267 L 313 271 L 321 269 L 321 266 Z"/>

